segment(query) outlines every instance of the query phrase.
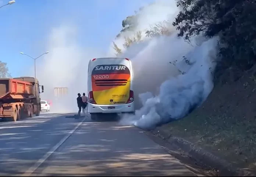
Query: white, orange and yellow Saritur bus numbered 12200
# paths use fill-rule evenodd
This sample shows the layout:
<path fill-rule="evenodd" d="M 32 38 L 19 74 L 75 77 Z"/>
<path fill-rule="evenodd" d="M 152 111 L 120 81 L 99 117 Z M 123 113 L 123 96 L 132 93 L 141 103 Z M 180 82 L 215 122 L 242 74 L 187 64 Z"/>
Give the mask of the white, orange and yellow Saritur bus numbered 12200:
<path fill-rule="evenodd" d="M 134 73 L 128 58 L 94 58 L 88 64 L 88 113 L 134 113 Z M 105 114 L 106 115 L 106 114 Z"/>

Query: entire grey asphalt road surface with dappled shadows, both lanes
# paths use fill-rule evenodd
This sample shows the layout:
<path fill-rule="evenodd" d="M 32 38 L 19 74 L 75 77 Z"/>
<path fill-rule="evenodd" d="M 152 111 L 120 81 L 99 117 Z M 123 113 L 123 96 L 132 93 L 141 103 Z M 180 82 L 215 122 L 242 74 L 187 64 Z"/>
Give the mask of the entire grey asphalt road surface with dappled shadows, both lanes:
<path fill-rule="evenodd" d="M 196 176 L 134 126 L 66 116 L 0 122 L 0 176 Z"/>

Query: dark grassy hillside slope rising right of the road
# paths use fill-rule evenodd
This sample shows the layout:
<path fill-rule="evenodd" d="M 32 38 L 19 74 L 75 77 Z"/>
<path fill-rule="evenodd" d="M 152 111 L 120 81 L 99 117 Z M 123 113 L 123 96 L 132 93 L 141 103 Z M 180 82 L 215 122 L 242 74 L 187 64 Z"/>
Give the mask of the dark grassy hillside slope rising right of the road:
<path fill-rule="evenodd" d="M 222 76 L 203 105 L 159 129 L 237 167 L 255 169 L 256 66 L 238 80 L 230 73 Z"/>

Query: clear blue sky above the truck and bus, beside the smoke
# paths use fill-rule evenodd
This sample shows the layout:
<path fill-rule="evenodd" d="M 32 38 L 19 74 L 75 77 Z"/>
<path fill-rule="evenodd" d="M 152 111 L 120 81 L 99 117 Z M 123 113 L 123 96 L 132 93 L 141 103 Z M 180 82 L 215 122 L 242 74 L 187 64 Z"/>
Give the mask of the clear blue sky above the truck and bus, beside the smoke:
<path fill-rule="evenodd" d="M 0 60 L 13 77 L 28 75 L 33 60 L 45 51 L 52 28 L 74 24 L 79 46 L 107 52 L 122 20 L 153 0 L 16 0 L 0 8 Z M 8 0 L 0 0 L 0 6 Z M 37 66 L 40 67 L 40 66 Z"/>

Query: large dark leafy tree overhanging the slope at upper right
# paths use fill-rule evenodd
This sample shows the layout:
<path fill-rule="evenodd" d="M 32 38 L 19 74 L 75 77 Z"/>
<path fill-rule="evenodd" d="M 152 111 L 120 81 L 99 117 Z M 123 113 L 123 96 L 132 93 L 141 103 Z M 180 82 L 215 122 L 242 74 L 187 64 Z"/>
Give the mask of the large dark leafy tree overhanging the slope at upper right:
<path fill-rule="evenodd" d="M 255 64 L 256 0 L 179 0 L 181 11 L 173 26 L 178 36 L 189 41 L 202 34 L 206 38 L 220 36 L 217 68 L 231 66 L 244 71 Z"/>

